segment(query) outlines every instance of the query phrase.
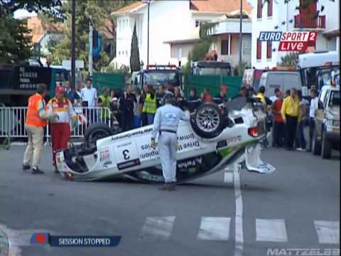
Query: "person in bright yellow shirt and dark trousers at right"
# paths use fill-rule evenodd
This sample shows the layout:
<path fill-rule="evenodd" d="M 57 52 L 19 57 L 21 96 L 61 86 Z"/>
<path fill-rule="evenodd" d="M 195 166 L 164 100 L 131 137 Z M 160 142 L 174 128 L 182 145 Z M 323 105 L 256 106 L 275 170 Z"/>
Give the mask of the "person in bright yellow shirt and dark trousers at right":
<path fill-rule="evenodd" d="M 295 88 L 292 88 L 290 96 L 283 100 L 281 115 L 283 122 L 286 124 L 286 148 L 293 150 L 297 125 L 301 122 L 300 101 L 298 100 Z"/>

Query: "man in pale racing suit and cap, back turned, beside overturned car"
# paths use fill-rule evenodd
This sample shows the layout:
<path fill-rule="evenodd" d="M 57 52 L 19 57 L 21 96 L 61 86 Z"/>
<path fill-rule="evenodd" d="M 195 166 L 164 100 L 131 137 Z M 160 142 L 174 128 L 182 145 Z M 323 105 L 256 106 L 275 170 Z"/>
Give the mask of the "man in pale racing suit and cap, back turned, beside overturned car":
<path fill-rule="evenodd" d="M 175 190 L 176 182 L 176 150 L 178 148 L 178 124 L 180 119 L 188 122 L 190 117 L 188 114 L 175 107 L 173 95 L 168 94 L 164 97 L 165 105 L 156 110 L 153 133 L 151 135 L 151 146 L 156 148 L 156 135 L 158 136 L 158 151 L 160 154 L 163 178 L 165 184 L 161 186 L 161 190 Z"/>

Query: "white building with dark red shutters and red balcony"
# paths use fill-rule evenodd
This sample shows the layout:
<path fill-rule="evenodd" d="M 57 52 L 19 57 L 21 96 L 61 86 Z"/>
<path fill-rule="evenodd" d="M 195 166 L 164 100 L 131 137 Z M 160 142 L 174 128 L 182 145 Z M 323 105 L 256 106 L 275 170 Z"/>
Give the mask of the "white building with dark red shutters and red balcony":
<path fill-rule="evenodd" d="M 315 50 L 340 50 L 340 1 L 291 0 L 287 4 L 284 0 L 248 1 L 252 8 L 253 67 L 273 68 L 288 54 L 278 52 L 278 42 L 259 42 L 261 31 L 318 31 Z"/>

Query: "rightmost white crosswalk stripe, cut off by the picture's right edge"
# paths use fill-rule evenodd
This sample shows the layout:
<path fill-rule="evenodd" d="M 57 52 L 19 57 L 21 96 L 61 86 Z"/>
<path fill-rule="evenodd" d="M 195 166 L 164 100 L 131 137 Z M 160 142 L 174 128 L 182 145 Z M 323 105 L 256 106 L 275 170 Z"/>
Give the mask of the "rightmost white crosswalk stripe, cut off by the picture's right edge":
<path fill-rule="evenodd" d="M 339 222 L 315 220 L 315 230 L 318 233 L 318 242 L 338 244 L 340 242 Z"/>

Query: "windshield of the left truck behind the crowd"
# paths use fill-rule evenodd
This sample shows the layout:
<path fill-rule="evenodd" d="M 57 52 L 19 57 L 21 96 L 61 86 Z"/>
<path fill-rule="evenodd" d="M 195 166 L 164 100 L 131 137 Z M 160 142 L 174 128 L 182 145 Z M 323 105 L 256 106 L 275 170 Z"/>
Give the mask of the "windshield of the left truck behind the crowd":
<path fill-rule="evenodd" d="M 176 72 L 148 72 L 144 73 L 144 83 L 148 85 L 171 84 L 179 86 L 178 73 Z"/>

